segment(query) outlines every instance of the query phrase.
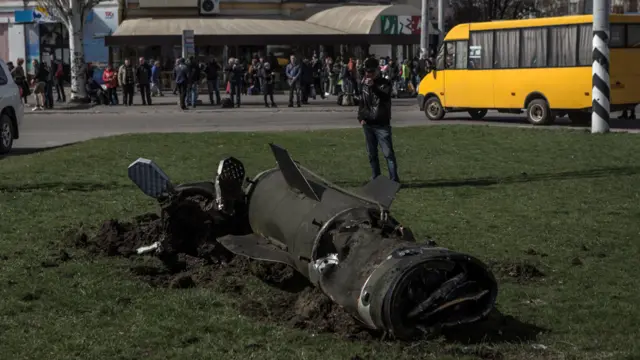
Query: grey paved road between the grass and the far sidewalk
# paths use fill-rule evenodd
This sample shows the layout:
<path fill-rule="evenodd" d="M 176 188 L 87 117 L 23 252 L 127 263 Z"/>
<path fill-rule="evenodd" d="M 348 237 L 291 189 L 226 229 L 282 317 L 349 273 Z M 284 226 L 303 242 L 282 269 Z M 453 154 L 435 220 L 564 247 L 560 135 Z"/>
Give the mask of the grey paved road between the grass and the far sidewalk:
<path fill-rule="evenodd" d="M 564 124 L 548 128 L 573 128 L 566 118 Z M 466 114 L 447 115 L 445 120 L 427 121 L 415 107 L 396 107 L 394 126 L 423 126 L 438 124 L 469 124 L 492 126 L 532 127 L 524 116 L 490 112 L 484 121 L 471 121 Z M 16 141 L 17 153 L 26 153 L 38 148 L 60 146 L 97 137 L 126 133 L 150 132 L 206 132 L 206 131 L 283 131 L 316 130 L 332 128 L 356 128 L 355 108 L 336 107 L 322 111 L 309 109 L 225 109 L 222 112 L 154 112 L 154 113 L 27 113 L 21 128 L 21 137 Z M 612 121 L 617 131 L 640 132 L 640 123 Z"/>

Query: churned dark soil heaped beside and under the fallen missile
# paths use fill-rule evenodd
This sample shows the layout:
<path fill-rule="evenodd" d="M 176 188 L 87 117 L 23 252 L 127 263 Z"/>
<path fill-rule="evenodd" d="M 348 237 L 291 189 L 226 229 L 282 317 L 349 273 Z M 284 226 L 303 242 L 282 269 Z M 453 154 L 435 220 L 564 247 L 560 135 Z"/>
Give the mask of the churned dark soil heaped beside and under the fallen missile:
<path fill-rule="evenodd" d="M 216 239 L 247 233 L 246 224 L 230 223 L 207 199 L 190 197 L 163 207 L 161 215 L 145 214 L 132 222 L 105 221 L 93 237 L 75 234 L 71 243 L 95 256 L 129 258 L 134 276 L 156 287 L 208 287 L 234 295 L 237 310 L 260 321 L 276 322 L 351 339 L 378 334 L 359 326 L 306 278 L 276 263 L 233 256 Z M 132 256 L 140 246 L 159 241 L 161 252 Z M 269 286 L 246 291 L 251 277 Z M 243 295 L 243 296 L 238 296 Z"/>

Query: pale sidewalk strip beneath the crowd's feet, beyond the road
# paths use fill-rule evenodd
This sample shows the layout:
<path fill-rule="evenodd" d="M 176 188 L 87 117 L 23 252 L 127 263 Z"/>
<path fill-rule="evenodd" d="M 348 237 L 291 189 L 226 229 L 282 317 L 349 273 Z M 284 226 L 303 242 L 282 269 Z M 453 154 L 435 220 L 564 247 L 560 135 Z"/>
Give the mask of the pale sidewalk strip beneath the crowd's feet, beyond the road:
<path fill-rule="evenodd" d="M 227 94 L 220 94 L 220 97 L 224 99 L 229 97 Z M 26 112 L 38 115 L 44 114 L 86 114 L 86 113 L 105 113 L 105 114 L 147 114 L 147 113 L 174 113 L 182 112 L 178 107 L 178 96 L 173 95 L 171 92 L 165 93 L 165 96 L 155 96 L 151 98 L 151 106 L 142 105 L 142 99 L 139 93 L 136 93 L 133 97 L 133 106 L 122 105 L 122 93 L 118 93 L 119 105 L 106 106 L 106 105 L 93 105 L 93 104 L 67 104 L 56 103 L 53 109 L 44 111 L 31 111 L 31 105 L 25 108 Z M 214 98 L 215 100 L 215 98 Z M 241 107 L 234 109 L 223 109 L 219 105 L 211 105 L 209 103 L 208 94 L 200 94 L 198 96 L 198 104 L 196 108 L 189 107 L 187 112 L 207 113 L 207 112 L 229 112 L 229 111 L 249 111 L 249 112 L 354 112 L 358 109 L 357 106 L 340 106 L 337 104 L 335 96 L 329 96 L 326 99 L 317 97 L 316 100 L 309 99 L 308 105 L 302 105 L 302 107 L 287 107 L 289 102 L 289 96 L 283 94 L 274 95 L 274 100 L 278 105 L 277 108 L 266 108 L 264 106 L 264 99 L 262 95 L 247 95 L 242 96 Z M 399 111 L 417 110 L 415 98 L 403 98 L 394 99 L 393 107 Z"/>

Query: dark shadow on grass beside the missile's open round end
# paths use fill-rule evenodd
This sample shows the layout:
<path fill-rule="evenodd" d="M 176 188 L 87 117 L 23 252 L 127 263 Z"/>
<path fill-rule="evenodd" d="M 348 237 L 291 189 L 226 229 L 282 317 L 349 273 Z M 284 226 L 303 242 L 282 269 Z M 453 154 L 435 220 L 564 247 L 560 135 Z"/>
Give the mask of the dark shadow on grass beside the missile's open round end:
<path fill-rule="evenodd" d="M 485 320 L 444 329 L 442 335 L 453 343 L 498 344 L 531 342 L 546 332 L 549 330 L 522 322 L 494 309 Z"/>

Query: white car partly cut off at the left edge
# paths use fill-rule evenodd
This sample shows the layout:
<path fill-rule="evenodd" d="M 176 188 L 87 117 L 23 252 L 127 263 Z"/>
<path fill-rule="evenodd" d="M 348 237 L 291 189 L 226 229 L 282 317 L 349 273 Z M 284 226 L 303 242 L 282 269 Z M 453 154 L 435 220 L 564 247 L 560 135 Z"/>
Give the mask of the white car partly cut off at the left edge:
<path fill-rule="evenodd" d="M 11 151 L 13 140 L 20 136 L 23 116 L 20 88 L 13 81 L 7 64 L 0 59 L 0 154 Z"/>

